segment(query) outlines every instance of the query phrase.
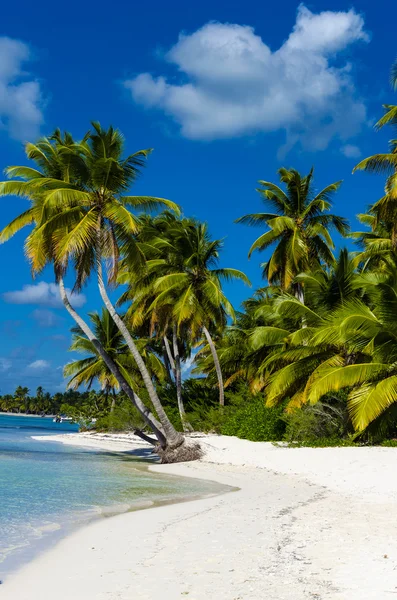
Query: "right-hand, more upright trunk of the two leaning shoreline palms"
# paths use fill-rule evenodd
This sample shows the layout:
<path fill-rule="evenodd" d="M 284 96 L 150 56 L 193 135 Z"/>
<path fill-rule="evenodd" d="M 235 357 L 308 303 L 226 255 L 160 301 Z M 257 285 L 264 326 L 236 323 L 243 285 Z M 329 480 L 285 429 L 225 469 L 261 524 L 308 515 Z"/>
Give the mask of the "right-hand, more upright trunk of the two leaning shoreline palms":
<path fill-rule="evenodd" d="M 100 232 L 98 232 L 98 233 L 100 233 Z M 132 339 L 132 336 L 131 336 L 130 332 L 128 331 L 124 321 L 118 315 L 115 307 L 113 306 L 112 302 L 110 301 L 110 298 L 106 291 L 105 284 L 103 282 L 101 253 L 100 253 L 99 248 L 97 248 L 97 277 L 98 277 L 99 293 L 101 294 L 101 298 L 102 298 L 107 310 L 109 311 L 110 316 L 112 317 L 113 321 L 116 323 L 118 330 L 120 331 L 121 335 L 123 336 L 123 338 L 128 346 L 128 349 L 130 350 L 132 356 L 134 357 L 137 367 L 141 373 L 145 387 L 149 393 L 150 400 L 154 406 L 154 409 L 155 409 L 157 416 L 160 420 L 160 423 L 162 425 L 162 428 L 163 428 L 163 431 L 164 431 L 164 434 L 166 437 L 166 441 L 167 441 L 167 446 L 170 448 L 177 448 L 178 446 L 181 446 L 183 444 L 184 437 L 179 431 L 176 431 L 175 427 L 169 420 L 169 418 L 160 402 L 157 392 L 154 388 L 153 381 L 152 381 L 149 371 L 147 370 L 146 365 L 142 359 L 142 356 L 139 354 L 138 348 L 136 347 L 134 340 Z"/>

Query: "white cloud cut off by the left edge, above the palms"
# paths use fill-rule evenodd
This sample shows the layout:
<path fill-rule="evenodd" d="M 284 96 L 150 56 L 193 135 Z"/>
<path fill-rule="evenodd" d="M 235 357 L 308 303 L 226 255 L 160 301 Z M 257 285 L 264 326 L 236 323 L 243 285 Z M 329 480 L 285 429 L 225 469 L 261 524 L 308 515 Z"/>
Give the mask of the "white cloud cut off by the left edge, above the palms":
<path fill-rule="evenodd" d="M 40 83 L 24 71 L 31 59 L 29 46 L 0 37 L 0 128 L 18 140 L 37 137 L 43 123 Z"/>

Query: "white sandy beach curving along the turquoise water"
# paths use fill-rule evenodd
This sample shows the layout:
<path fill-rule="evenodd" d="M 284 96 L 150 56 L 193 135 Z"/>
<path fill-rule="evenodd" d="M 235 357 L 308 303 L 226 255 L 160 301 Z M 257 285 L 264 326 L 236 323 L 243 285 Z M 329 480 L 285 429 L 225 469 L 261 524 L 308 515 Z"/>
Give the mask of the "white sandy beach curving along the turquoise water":
<path fill-rule="evenodd" d="M 128 436 L 55 437 L 107 450 L 143 446 Z M 89 525 L 11 576 L 1 598 L 397 597 L 397 449 L 202 442 L 200 463 L 151 468 L 239 491 Z"/>

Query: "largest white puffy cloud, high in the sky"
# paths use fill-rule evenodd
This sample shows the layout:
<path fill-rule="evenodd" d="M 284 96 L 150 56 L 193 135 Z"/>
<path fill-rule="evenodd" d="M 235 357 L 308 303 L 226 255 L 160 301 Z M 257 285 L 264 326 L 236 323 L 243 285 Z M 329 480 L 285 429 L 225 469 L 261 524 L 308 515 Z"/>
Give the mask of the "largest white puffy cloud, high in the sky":
<path fill-rule="evenodd" d="M 285 130 L 285 150 L 298 141 L 321 150 L 356 135 L 366 119 L 351 68 L 334 59 L 353 42 L 368 41 L 353 9 L 313 14 L 301 5 L 295 26 L 272 51 L 252 27 L 207 23 L 180 34 L 165 59 L 180 83 L 141 73 L 124 82 L 135 102 L 158 108 L 191 139 Z"/>

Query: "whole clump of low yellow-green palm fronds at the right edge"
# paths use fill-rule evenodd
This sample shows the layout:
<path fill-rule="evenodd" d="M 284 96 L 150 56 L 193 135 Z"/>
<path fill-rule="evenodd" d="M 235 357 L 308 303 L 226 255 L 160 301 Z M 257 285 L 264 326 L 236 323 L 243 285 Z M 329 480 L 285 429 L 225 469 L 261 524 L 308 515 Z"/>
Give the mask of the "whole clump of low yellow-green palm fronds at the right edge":
<path fill-rule="evenodd" d="M 268 406 L 289 398 L 288 407 L 297 408 L 346 390 L 357 432 L 395 409 L 397 267 L 357 275 L 354 286 L 365 291 L 369 305 L 353 298 L 322 316 L 296 306 L 305 311 L 309 325 L 287 334 L 284 348 L 265 361 Z M 281 302 L 279 310 L 292 316 L 293 302 Z"/>

